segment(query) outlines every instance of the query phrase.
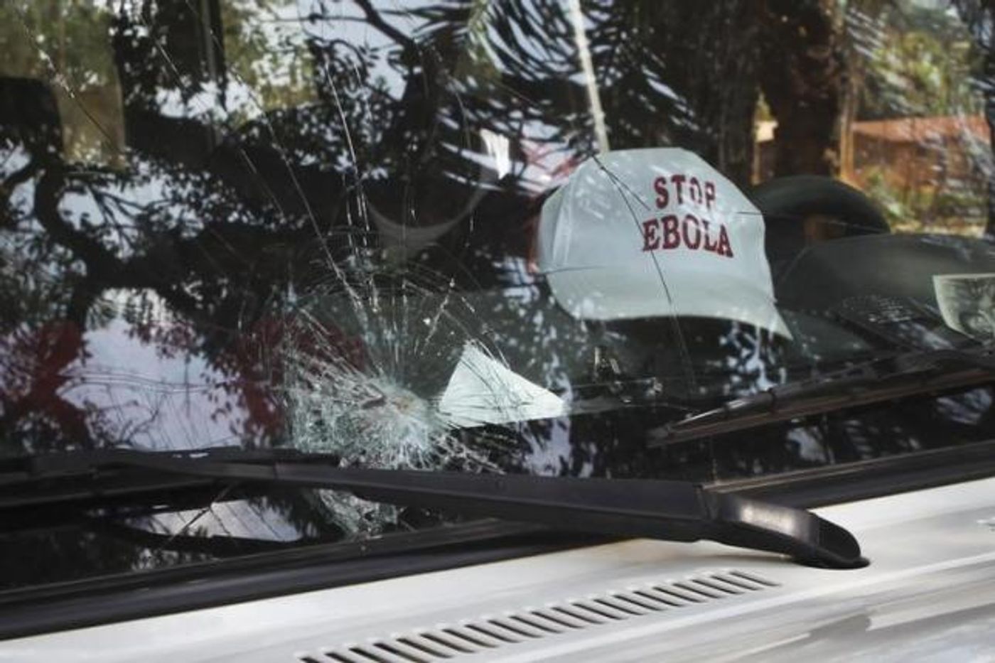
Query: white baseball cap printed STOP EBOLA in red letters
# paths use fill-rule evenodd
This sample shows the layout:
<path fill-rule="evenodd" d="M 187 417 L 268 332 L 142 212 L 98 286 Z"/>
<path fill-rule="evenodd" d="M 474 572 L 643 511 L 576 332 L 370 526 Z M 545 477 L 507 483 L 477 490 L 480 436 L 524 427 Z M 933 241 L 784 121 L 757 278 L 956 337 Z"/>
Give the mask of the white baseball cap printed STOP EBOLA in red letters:
<path fill-rule="evenodd" d="M 688 316 L 790 337 L 760 211 L 697 154 L 665 147 L 582 163 L 542 207 L 537 261 L 582 320 Z"/>

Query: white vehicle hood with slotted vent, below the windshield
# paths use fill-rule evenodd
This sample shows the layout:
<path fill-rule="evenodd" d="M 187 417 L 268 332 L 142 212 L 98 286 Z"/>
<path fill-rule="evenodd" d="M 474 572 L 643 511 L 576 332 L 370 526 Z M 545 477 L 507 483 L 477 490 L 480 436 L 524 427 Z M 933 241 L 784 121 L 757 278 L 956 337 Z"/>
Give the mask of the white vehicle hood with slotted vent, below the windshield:
<path fill-rule="evenodd" d="M 817 513 L 871 565 L 628 541 L 9 640 L 0 660 L 995 660 L 995 479 Z"/>

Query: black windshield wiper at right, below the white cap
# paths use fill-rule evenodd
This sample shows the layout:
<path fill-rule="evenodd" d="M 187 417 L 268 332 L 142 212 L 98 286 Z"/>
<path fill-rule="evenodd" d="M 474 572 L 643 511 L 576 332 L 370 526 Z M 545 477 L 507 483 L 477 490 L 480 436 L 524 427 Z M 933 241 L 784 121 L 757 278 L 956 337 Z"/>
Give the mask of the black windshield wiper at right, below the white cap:
<path fill-rule="evenodd" d="M 990 348 L 916 350 L 771 387 L 670 424 L 650 446 L 688 442 L 813 414 L 992 381 Z"/>

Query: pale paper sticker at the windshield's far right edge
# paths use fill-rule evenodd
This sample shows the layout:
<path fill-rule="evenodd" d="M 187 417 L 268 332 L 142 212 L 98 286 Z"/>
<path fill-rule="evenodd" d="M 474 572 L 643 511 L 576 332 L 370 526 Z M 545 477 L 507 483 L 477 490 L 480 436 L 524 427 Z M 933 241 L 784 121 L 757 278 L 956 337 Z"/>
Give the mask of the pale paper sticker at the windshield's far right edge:
<path fill-rule="evenodd" d="M 947 327 L 995 340 L 995 274 L 937 274 L 933 290 Z"/>

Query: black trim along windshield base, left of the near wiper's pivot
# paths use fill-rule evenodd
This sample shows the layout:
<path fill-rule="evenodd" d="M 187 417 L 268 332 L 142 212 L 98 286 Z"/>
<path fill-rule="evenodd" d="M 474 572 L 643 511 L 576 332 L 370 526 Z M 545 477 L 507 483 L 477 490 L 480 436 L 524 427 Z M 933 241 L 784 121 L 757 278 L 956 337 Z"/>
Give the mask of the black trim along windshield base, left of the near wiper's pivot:
<path fill-rule="evenodd" d="M 607 537 L 540 531 L 516 523 L 468 524 L 449 544 L 389 552 L 332 544 L 296 551 L 87 578 L 0 593 L 0 640 L 203 609 L 399 575 L 608 543 Z M 452 528 L 457 529 L 457 528 Z M 476 531 L 476 536 L 474 535 Z M 417 535 L 398 535 L 415 544 Z M 454 533 L 447 533 L 454 534 Z M 394 537 L 384 538 L 384 542 Z M 368 542 L 374 544 L 374 542 Z M 345 549 L 351 548 L 351 551 Z M 376 548 L 375 544 L 371 548 Z M 381 547 L 388 548 L 388 547 Z M 350 556 L 351 555 L 351 556 Z"/>

